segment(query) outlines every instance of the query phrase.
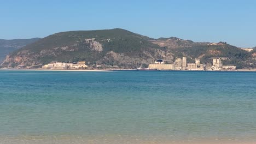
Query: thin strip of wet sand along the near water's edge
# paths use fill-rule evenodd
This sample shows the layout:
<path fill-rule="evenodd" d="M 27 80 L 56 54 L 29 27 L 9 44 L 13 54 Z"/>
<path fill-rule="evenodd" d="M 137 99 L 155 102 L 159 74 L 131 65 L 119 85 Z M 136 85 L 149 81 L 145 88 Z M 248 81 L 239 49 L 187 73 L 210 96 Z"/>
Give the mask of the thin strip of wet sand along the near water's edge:
<path fill-rule="evenodd" d="M 109 139 L 107 137 L 103 137 L 102 139 L 84 139 L 81 137 L 78 137 L 77 139 L 69 139 L 66 138 L 56 138 L 53 137 L 53 139 L 40 139 L 40 138 L 33 138 L 33 137 L 23 137 L 20 138 L 2 138 L 0 139 L 1 144 L 120 144 L 120 143 L 126 143 L 126 144 L 255 144 L 256 141 L 248 140 L 248 141 L 240 141 L 240 140 L 161 140 L 161 139 L 154 139 L 154 140 L 142 140 L 142 139 L 123 139 L 121 137 L 117 139 Z"/>

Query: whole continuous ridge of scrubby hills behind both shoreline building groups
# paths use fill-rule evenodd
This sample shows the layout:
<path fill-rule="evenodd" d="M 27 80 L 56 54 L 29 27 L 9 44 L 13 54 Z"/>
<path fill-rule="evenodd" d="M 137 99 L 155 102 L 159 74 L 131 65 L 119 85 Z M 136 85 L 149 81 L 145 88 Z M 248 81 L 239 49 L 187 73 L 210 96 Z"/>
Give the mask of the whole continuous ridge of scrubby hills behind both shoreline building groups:
<path fill-rule="evenodd" d="M 2 66 L 15 67 L 20 64 L 43 65 L 52 61 L 86 61 L 90 67 L 102 68 L 147 67 L 155 59 L 168 63 L 186 56 L 187 61 L 195 58 L 201 63 L 211 63 L 211 57 L 228 57 L 224 64 L 237 68 L 255 68 L 254 52 L 220 43 L 197 43 L 175 37 L 152 39 L 115 28 L 96 31 L 71 31 L 49 35 L 16 50 L 5 58 Z"/>

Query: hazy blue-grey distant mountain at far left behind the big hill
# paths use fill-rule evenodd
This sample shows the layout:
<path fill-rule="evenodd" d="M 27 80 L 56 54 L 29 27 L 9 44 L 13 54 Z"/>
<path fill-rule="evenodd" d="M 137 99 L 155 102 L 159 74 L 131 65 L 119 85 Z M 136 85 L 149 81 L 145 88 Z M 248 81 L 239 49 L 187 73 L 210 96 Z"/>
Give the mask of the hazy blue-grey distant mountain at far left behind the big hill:
<path fill-rule="evenodd" d="M 4 60 L 8 53 L 20 49 L 21 47 L 24 47 L 27 44 L 34 43 L 39 39 L 40 38 L 13 40 L 0 39 L 0 63 Z"/>

